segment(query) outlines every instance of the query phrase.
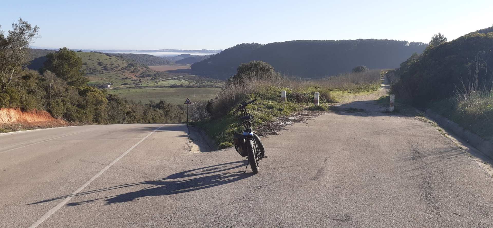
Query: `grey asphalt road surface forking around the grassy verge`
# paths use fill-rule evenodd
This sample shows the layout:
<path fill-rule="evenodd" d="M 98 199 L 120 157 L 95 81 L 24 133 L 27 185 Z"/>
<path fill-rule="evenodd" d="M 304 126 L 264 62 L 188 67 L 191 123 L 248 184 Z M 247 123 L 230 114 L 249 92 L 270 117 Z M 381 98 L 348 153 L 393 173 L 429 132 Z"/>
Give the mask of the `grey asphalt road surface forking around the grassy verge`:
<path fill-rule="evenodd" d="M 468 153 L 350 106 L 264 138 L 257 175 L 234 149 L 195 152 L 182 124 L 0 134 L 0 227 L 493 227 L 492 177 Z"/>

